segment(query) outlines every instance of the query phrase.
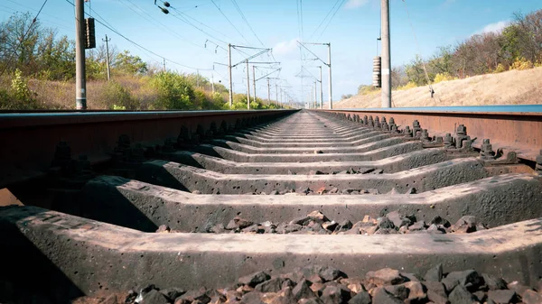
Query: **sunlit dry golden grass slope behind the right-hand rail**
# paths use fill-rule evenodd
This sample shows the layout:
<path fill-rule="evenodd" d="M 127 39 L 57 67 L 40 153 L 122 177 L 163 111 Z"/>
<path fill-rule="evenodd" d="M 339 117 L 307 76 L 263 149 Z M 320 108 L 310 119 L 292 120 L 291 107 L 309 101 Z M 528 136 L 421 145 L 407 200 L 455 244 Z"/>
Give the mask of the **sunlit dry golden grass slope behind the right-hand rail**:
<path fill-rule="evenodd" d="M 393 106 L 485 106 L 542 104 L 542 68 L 509 70 L 433 86 L 393 91 Z M 380 107 L 379 92 L 341 100 L 334 108 Z"/>

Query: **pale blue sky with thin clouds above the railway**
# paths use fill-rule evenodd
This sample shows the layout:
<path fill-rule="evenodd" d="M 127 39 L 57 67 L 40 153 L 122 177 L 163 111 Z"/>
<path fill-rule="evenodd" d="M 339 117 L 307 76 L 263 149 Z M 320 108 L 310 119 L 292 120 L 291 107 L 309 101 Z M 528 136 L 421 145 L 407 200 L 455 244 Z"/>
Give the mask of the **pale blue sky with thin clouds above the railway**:
<path fill-rule="evenodd" d="M 213 62 L 227 63 L 227 43 L 273 48 L 272 56 L 266 54 L 255 60 L 273 61 L 275 58 L 280 61 L 280 74 L 275 73 L 271 77 L 281 79 L 272 79 L 272 85 L 279 84 L 297 100 L 306 99 L 311 89 L 310 83 L 313 83 L 310 75 L 319 76 L 318 68 L 314 67 L 322 65 L 322 62 L 310 60 L 313 56 L 307 51 L 300 54 L 296 45 L 298 40 L 332 43 L 333 100 L 340 99 L 343 94 L 355 94 L 360 84 L 370 83 L 372 58 L 377 54 L 376 39 L 380 27 L 379 0 L 169 2 L 173 7 L 170 14 L 163 14 L 154 6 L 154 0 L 91 0 L 91 7 L 87 4 L 86 11 L 155 54 L 140 49 L 99 23 L 96 28 L 98 41 L 107 34 L 120 51 L 129 50 L 156 65 L 161 65 L 162 58 L 165 58 L 168 69 L 180 72 L 195 72 L 191 68 L 201 69 L 202 75 L 208 78 L 212 75 L 215 81 L 221 80 L 225 85 L 228 83 L 227 68 Z M 539 0 L 390 0 L 390 3 L 394 66 L 414 59 L 417 53 L 424 57 L 431 56 L 439 46 L 453 45 L 474 33 L 499 31 L 512 19 L 514 12 L 528 13 L 542 8 Z M 161 0 L 157 4 L 164 6 Z M 5 21 L 15 11 L 35 14 L 41 5 L 42 0 L 2 0 L 0 20 Z M 336 13 L 332 10 L 333 6 L 338 7 Z M 406 9 L 419 47 L 416 46 Z M 324 21 L 326 15 L 328 19 Z M 39 19 L 44 26 L 57 28 L 59 34 L 73 38 L 74 10 L 68 1 L 49 0 Z M 326 47 L 309 48 L 322 60 L 327 60 Z M 233 63 L 257 52 L 248 49 L 242 51 L 245 53 L 233 51 Z M 302 57 L 307 67 L 307 71 L 303 72 L 305 78 L 296 77 L 301 70 Z M 259 66 L 257 78 L 273 70 Z M 252 78 L 252 68 L 249 70 Z M 246 92 L 244 64 L 233 69 L 233 82 L 234 91 Z M 324 101 L 328 95 L 327 83 L 327 67 L 323 67 Z M 257 82 L 257 96 L 266 97 L 266 92 L 266 79 L 263 78 Z M 275 90 L 272 90 L 272 98 L 275 98 Z"/>

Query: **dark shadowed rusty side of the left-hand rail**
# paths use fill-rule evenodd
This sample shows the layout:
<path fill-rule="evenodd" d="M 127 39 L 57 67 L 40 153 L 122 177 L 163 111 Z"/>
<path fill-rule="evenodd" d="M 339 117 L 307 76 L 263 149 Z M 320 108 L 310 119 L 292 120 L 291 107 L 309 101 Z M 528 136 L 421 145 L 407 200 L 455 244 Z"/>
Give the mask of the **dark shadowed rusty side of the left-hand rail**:
<path fill-rule="evenodd" d="M 238 119 L 280 116 L 295 110 L 261 111 L 163 111 L 0 114 L 0 188 L 39 175 L 51 165 L 55 147 L 70 144 L 72 155 L 89 161 L 107 161 L 118 137 L 127 134 L 135 143 L 164 143 L 177 137 L 181 127 L 191 133 L 198 124 L 235 124 Z"/>

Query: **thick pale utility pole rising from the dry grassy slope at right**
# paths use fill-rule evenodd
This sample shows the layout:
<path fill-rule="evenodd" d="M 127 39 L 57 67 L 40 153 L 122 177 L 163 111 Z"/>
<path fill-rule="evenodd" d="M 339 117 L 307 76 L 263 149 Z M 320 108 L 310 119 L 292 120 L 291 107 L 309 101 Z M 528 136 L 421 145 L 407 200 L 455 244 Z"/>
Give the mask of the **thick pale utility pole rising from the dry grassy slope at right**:
<path fill-rule="evenodd" d="M 389 0 L 380 0 L 382 37 L 382 107 L 391 107 L 391 48 L 389 40 Z"/>

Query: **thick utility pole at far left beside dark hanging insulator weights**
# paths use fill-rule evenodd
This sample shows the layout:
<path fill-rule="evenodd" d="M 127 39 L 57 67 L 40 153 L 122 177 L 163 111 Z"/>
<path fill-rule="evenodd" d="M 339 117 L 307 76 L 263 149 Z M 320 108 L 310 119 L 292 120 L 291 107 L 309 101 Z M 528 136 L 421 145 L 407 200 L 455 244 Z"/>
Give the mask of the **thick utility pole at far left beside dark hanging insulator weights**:
<path fill-rule="evenodd" d="M 87 109 L 87 75 L 85 69 L 85 38 L 87 32 L 84 0 L 75 0 L 75 107 Z"/>

